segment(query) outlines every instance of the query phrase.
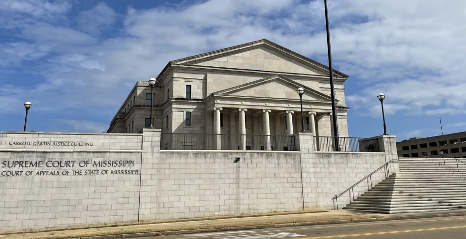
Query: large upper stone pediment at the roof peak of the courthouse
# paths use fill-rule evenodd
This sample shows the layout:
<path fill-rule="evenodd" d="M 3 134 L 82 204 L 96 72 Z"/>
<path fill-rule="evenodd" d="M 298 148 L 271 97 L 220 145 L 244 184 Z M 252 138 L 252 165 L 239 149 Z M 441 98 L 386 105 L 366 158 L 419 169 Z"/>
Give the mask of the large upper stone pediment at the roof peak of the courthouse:
<path fill-rule="evenodd" d="M 329 75 L 327 66 L 265 39 L 170 61 L 170 63 L 305 75 Z M 348 77 L 348 75 L 335 70 L 333 70 L 333 75 Z"/>

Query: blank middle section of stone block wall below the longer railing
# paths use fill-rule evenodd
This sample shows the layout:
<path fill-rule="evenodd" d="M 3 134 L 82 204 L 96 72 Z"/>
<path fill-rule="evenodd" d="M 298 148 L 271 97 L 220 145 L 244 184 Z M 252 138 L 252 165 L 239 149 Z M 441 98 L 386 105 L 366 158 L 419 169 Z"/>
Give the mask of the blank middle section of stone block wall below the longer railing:
<path fill-rule="evenodd" d="M 141 219 L 302 209 L 299 152 L 162 150 L 143 175 Z"/>

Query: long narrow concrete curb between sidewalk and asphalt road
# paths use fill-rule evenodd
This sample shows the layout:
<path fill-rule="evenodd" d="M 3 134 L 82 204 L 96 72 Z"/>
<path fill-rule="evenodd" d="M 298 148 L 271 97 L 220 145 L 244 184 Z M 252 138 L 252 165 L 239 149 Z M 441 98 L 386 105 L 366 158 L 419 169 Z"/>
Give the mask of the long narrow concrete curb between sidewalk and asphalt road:
<path fill-rule="evenodd" d="M 364 223 L 364 222 L 393 221 L 393 220 L 433 218 L 433 217 L 453 217 L 453 216 L 466 216 L 466 212 L 427 214 L 427 215 L 407 215 L 407 216 L 379 217 L 379 218 L 363 218 L 363 219 L 321 221 L 321 222 L 234 226 L 234 227 L 224 227 L 224 228 L 219 228 L 219 229 L 205 228 L 205 229 L 165 231 L 165 232 L 143 232 L 143 233 L 130 233 L 130 234 L 112 234 L 112 235 L 105 235 L 105 236 L 79 237 L 79 238 L 67 238 L 67 239 L 140 238 L 140 237 L 156 237 L 156 236 L 164 236 L 164 235 L 165 236 L 168 236 L 168 235 L 180 235 L 180 234 L 188 234 L 188 233 L 221 232 L 221 231 L 234 231 L 234 230 L 245 230 L 245 229 L 262 229 L 262 228 L 273 228 L 273 227 L 311 226 L 311 225 L 326 225 L 326 224 L 348 224 L 348 223 Z"/>

